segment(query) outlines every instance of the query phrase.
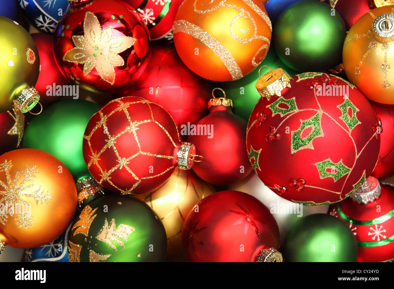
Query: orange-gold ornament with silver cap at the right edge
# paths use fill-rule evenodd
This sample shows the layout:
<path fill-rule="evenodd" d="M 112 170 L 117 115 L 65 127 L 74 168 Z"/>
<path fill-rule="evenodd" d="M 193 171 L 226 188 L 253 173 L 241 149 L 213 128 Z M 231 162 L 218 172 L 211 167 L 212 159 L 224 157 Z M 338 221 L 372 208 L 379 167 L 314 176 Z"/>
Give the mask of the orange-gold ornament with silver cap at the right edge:
<path fill-rule="evenodd" d="M 349 81 L 367 98 L 394 104 L 394 5 L 372 9 L 355 22 L 343 63 Z"/>

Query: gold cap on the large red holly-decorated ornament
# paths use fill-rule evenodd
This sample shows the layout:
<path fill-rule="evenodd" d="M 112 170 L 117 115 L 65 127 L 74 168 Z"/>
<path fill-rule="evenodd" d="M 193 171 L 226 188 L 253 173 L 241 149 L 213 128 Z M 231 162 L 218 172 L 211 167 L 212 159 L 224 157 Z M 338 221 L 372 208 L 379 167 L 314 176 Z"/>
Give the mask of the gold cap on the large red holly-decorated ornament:
<path fill-rule="evenodd" d="M 263 67 L 271 69 L 263 76 L 260 76 L 260 70 Z M 271 99 L 271 96 L 281 96 L 281 91 L 285 88 L 291 88 L 290 80 L 292 77 L 288 75 L 282 68 L 272 69 L 268 65 L 263 65 L 258 70 L 258 81 L 256 82 L 256 89 L 263 98 Z"/>

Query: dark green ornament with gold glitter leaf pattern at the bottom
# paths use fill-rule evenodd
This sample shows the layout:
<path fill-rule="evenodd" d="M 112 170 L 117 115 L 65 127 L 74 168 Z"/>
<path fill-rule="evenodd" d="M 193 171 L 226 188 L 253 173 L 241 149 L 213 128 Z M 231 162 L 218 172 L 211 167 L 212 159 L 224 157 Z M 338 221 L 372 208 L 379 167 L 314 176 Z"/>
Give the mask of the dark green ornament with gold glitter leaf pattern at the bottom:
<path fill-rule="evenodd" d="M 68 235 L 70 262 L 164 261 L 162 221 L 145 202 L 107 195 L 87 204 Z"/>

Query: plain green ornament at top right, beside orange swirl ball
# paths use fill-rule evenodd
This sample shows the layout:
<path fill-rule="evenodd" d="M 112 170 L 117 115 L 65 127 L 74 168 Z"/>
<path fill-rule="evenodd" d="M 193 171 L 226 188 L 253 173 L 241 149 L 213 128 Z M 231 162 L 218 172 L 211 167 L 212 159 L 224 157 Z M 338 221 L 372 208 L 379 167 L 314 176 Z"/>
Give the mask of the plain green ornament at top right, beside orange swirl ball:
<path fill-rule="evenodd" d="M 342 62 L 346 27 L 338 11 L 316 0 L 303 0 L 279 16 L 273 43 L 279 58 L 299 71 L 321 71 Z"/>

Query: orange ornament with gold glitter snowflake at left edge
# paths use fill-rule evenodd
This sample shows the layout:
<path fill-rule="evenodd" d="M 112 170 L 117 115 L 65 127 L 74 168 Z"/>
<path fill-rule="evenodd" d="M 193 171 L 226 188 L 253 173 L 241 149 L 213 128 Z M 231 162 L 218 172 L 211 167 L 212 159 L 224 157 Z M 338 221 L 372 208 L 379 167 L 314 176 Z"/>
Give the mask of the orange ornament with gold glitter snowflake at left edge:
<path fill-rule="evenodd" d="M 0 156 L 0 253 L 4 246 L 39 247 L 67 228 L 76 187 L 66 166 L 38 149 Z"/>

